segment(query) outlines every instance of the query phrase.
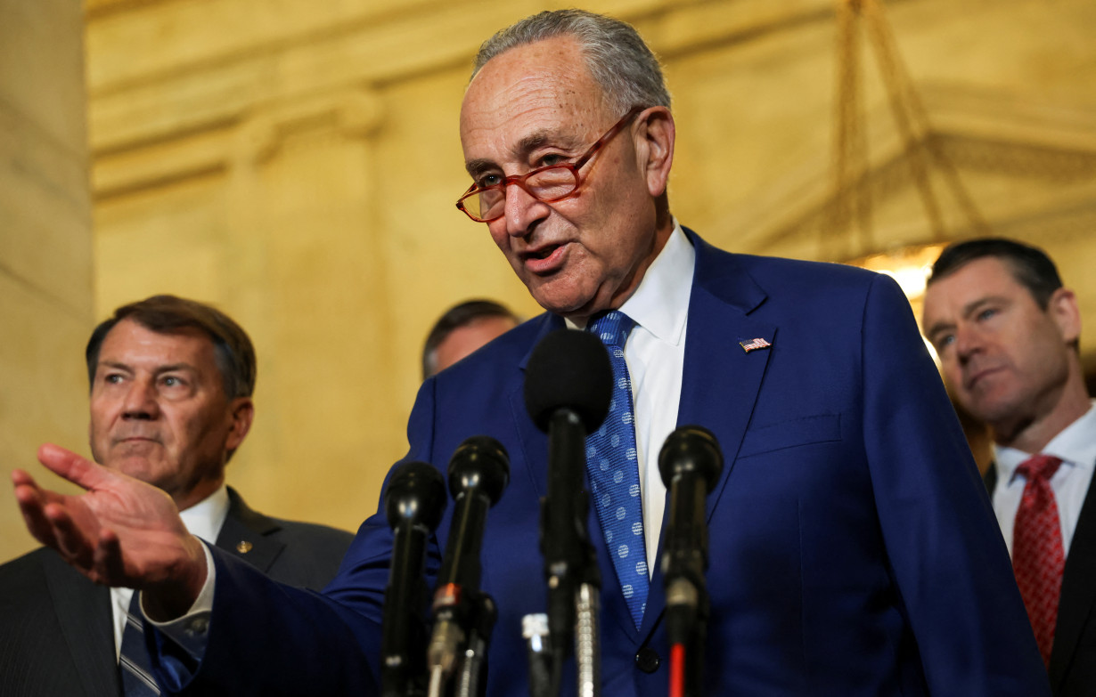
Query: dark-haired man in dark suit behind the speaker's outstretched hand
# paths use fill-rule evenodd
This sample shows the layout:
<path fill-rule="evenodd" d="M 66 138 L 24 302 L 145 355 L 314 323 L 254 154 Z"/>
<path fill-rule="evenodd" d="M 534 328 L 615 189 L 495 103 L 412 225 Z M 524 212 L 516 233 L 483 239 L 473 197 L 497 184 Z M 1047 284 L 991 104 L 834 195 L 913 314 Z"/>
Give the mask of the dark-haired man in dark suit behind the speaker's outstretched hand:
<path fill-rule="evenodd" d="M 255 353 L 236 322 L 156 295 L 118 307 L 85 355 L 96 462 L 156 485 L 190 532 L 271 578 L 319 590 L 334 577 L 350 533 L 267 518 L 225 486 L 254 414 Z M 47 548 L 0 567 L 0 693 L 157 694 L 132 692 L 146 688 L 148 664 L 140 623 L 127 623 L 132 595 L 96 585 Z"/>

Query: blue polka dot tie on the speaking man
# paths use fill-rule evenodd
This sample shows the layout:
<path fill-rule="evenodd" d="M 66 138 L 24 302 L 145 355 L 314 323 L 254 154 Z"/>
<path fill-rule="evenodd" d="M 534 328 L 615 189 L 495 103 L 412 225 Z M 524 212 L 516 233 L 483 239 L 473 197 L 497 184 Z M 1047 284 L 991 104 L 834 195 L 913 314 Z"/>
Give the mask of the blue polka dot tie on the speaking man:
<path fill-rule="evenodd" d="M 647 545 L 643 543 L 643 506 L 639 496 L 635 409 L 631 377 L 624 360 L 624 344 L 636 323 L 613 310 L 590 323 L 609 352 L 613 398 L 605 422 L 586 438 L 586 469 L 605 546 L 613 558 L 620 590 L 636 628 L 647 608 Z"/>

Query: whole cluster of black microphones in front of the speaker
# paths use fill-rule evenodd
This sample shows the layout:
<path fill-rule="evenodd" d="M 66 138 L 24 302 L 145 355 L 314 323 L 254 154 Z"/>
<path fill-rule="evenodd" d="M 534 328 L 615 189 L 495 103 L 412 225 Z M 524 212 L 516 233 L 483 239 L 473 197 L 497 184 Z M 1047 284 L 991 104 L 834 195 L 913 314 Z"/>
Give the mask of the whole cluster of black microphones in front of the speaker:
<path fill-rule="evenodd" d="M 540 551 L 547 613 L 527 615 L 530 697 L 560 694 L 573 657 L 578 694 L 601 694 L 601 571 L 587 530 L 585 439 L 609 409 L 613 369 L 605 346 L 586 332 L 560 329 L 534 349 L 525 405 L 548 434 L 548 481 L 540 506 Z M 707 429 L 674 430 L 659 454 L 670 492 L 662 577 L 670 640 L 671 697 L 700 694 L 708 619 L 705 501 L 723 461 Z M 385 492 L 393 548 L 381 639 L 384 697 L 479 697 L 498 612 L 480 590 L 480 550 L 488 511 L 510 481 L 505 448 L 487 435 L 464 441 L 448 466 L 454 514 L 433 594 L 424 580 L 426 546 L 446 508 L 442 473 L 422 462 L 401 464 Z"/>

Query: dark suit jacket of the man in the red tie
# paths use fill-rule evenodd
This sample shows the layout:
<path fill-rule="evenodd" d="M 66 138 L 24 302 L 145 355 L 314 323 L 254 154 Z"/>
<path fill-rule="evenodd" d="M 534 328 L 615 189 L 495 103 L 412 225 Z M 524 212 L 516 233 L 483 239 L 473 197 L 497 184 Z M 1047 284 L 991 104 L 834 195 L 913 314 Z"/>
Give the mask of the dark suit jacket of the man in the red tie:
<path fill-rule="evenodd" d="M 997 485 L 995 464 L 984 479 L 992 495 Z M 1065 558 L 1048 670 L 1054 697 L 1096 695 L 1096 486 L 1092 483 Z"/>

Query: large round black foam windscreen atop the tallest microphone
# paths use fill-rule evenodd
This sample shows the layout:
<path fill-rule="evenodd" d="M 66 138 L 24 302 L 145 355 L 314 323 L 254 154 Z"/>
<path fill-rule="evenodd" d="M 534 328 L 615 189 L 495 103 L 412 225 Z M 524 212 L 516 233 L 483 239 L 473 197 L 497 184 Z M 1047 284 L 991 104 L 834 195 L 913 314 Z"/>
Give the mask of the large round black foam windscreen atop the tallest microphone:
<path fill-rule="evenodd" d="M 601 339 L 589 332 L 557 329 L 540 339 L 525 371 L 525 408 L 541 431 L 558 409 L 572 409 L 587 433 L 609 411 L 613 367 Z"/>

